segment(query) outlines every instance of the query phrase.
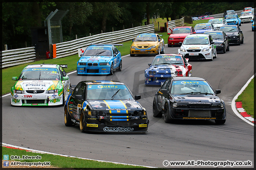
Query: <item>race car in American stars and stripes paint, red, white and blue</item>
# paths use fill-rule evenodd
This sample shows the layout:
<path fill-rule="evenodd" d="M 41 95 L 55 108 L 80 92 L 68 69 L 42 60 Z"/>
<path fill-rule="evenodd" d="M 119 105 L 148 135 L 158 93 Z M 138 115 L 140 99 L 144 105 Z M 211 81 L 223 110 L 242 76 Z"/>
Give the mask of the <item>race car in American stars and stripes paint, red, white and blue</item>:
<path fill-rule="evenodd" d="M 161 85 L 169 77 L 192 75 L 188 58 L 179 54 L 157 55 L 148 65 L 150 67 L 145 69 L 145 85 Z"/>

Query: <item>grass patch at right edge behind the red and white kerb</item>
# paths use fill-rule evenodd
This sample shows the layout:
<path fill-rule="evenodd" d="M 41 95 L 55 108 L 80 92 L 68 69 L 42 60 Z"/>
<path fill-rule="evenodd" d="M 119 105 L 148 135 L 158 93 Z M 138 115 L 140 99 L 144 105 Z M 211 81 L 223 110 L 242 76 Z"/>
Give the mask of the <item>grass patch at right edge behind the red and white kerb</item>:
<path fill-rule="evenodd" d="M 242 102 L 242 107 L 245 109 L 247 114 L 254 118 L 254 78 L 242 94 L 238 96 L 236 102 Z"/>

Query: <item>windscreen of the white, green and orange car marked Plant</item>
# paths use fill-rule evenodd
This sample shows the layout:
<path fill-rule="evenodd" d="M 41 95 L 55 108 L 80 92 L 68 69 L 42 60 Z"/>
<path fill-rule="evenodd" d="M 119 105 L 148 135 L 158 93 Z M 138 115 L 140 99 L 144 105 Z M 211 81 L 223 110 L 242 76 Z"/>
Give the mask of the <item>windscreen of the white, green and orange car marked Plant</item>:
<path fill-rule="evenodd" d="M 19 80 L 60 80 L 57 68 L 26 68 Z"/>

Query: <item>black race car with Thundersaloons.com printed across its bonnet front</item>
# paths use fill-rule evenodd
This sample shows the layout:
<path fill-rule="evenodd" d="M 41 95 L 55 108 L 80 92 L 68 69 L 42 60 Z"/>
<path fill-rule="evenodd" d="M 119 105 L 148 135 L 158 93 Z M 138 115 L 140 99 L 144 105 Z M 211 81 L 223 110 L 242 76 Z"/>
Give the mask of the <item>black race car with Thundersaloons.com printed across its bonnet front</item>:
<path fill-rule="evenodd" d="M 153 116 L 162 117 L 165 123 L 175 119 L 226 121 L 225 103 L 210 84 L 198 77 L 170 77 L 155 93 Z"/>

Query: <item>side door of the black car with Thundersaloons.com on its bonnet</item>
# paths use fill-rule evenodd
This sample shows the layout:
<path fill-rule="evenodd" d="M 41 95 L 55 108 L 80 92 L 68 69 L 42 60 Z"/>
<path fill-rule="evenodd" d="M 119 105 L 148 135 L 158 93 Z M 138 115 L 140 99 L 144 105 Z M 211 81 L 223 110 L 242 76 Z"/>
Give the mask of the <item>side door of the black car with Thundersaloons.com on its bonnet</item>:
<path fill-rule="evenodd" d="M 167 79 L 164 84 L 161 86 L 157 93 L 157 104 L 158 108 L 164 109 L 164 104 L 165 104 L 165 98 L 168 98 L 169 92 L 170 92 L 170 84 L 171 80 Z"/>

